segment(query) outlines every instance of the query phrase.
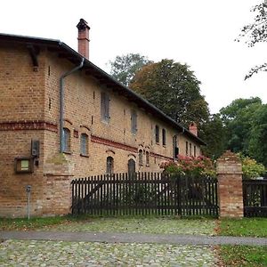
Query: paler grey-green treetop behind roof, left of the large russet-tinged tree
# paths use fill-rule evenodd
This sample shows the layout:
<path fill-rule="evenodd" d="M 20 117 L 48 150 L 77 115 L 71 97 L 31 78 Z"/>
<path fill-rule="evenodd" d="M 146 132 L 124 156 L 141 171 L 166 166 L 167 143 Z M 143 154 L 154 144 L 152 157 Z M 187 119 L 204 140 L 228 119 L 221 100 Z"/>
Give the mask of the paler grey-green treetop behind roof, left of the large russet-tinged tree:
<path fill-rule="evenodd" d="M 135 73 L 142 67 L 152 61 L 139 53 L 128 53 L 117 56 L 115 61 L 109 61 L 111 66 L 110 74 L 119 82 L 128 86 L 132 81 Z"/>

